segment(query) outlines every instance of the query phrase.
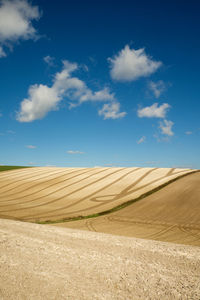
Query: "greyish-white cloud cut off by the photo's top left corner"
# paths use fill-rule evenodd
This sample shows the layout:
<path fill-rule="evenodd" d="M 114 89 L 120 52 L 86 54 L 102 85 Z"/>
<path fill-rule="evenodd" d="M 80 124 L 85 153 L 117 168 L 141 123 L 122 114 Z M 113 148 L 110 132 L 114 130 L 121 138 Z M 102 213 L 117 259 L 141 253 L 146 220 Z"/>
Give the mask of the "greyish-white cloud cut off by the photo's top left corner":
<path fill-rule="evenodd" d="M 6 56 L 5 47 L 38 37 L 32 21 L 40 16 L 38 7 L 27 0 L 0 0 L 0 57 Z"/>

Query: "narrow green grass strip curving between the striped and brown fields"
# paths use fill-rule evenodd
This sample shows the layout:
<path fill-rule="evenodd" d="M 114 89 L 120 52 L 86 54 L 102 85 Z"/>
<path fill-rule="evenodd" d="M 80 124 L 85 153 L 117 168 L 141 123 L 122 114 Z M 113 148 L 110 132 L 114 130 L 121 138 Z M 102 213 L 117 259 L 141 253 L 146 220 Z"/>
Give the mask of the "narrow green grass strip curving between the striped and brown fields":
<path fill-rule="evenodd" d="M 132 200 L 129 200 L 127 202 L 124 202 L 122 204 L 119 204 L 111 209 L 108 209 L 108 210 L 104 210 L 102 212 L 99 212 L 99 213 L 96 213 L 96 214 L 91 214 L 91 215 L 87 215 L 87 216 L 77 216 L 77 217 L 71 217 L 71 218 L 64 218 L 64 219 L 60 219 L 60 220 L 54 220 L 54 221 L 51 221 L 51 220 L 47 220 L 47 221 L 35 221 L 34 223 L 37 223 L 37 224 L 56 224 L 56 223 L 64 223 L 64 222 L 72 222 L 72 221 L 79 221 L 79 220 L 85 220 L 85 219 L 90 219 L 90 218 L 97 218 L 97 217 L 100 217 L 100 216 L 104 216 L 104 215 L 108 215 L 110 213 L 113 213 L 113 212 L 116 212 L 118 210 L 121 210 L 139 200 L 142 200 L 144 199 L 145 197 L 147 196 L 150 196 L 152 195 L 153 193 L 155 192 L 158 192 L 159 190 L 163 189 L 164 187 L 166 187 L 167 185 L 171 184 L 172 182 L 175 182 L 177 181 L 178 179 L 181 179 L 185 176 L 188 176 L 188 175 L 191 175 L 191 174 L 194 174 L 194 173 L 197 173 L 197 172 L 200 172 L 200 170 L 195 170 L 193 172 L 190 172 L 190 173 L 187 173 L 187 174 L 183 174 L 179 177 L 176 177 L 176 178 L 173 178 L 161 185 L 159 185 L 158 187 L 140 195 L 139 197 L 135 198 L 135 199 L 132 199 Z"/>

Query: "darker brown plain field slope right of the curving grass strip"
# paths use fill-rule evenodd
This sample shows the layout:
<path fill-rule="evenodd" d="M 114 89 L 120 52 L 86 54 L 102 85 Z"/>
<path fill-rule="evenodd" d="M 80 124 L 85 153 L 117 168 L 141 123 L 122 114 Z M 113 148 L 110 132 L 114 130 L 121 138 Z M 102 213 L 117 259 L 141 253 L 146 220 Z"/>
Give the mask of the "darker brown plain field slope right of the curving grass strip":
<path fill-rule="evenodd" d="M 200 173 L 108 215 L 55 225 L 200 246 Z"/>

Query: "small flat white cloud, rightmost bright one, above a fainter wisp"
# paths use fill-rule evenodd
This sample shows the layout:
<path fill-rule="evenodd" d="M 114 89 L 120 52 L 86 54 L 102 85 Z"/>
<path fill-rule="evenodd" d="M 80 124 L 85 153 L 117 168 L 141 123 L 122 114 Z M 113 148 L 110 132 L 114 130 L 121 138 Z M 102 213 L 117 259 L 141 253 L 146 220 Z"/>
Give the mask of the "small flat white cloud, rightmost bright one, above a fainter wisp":
<path fill-rule="evenodd" d="M 158 106 L 158 103 L 154 103 L 151 106 L 147 106 L 141 109 L 138 109 L 138 117 L 143 118 L 165 118 L 165 115 L 170 108 L 168 103 L 163 103 Z"/>

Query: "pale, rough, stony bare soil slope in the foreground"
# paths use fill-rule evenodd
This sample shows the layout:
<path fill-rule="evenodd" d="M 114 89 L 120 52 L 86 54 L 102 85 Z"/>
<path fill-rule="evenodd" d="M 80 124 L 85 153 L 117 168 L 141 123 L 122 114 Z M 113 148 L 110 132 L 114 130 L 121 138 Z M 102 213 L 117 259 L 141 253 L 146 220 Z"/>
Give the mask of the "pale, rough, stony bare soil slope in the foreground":
<path fill-rule="evenodd" d="M 200 299 L 200 248 L 0 220 L 1 300 Z"/>

